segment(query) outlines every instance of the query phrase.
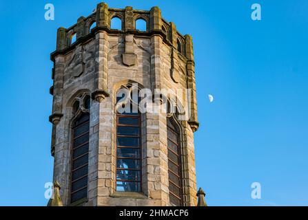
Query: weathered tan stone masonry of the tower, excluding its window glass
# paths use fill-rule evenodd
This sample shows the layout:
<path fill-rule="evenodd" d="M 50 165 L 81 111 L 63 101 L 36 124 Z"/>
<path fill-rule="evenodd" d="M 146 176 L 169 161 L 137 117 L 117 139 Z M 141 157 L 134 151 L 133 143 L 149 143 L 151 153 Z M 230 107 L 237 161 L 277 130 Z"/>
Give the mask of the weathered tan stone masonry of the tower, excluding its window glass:
<path fill-rule="evenodd" d="M 110 29 L 113 17 L 121 19 L 122 30 Z M 147 22 L 146 31 L 136 30 L 136 19 Z M 96 27 L 90 30 L 94 22 Z M 74 34 L 76 42 L 71 43 Z M 70 205 L 72 104 L 80 94 L 92 98 L 88 199 L 80 204 L 170 206 L 165 113 L 142 115 L 142 193 L 116 192 L 116 91 L 131 83 L 153 93 L 154 89 L 192 89 L 191 117 L 181 121 L 182 190 L 183 204 L 196 206 L 194 131 L 198 119 L 192 37 L 178 33 L 174 23 L 161 17 L 158 7 L 114 9 L 99 3 L 90 16 L 80 17 L 68 29 L 58 29 L 51 60 L 53 178 L 61 186 L 64 206 Z"/>

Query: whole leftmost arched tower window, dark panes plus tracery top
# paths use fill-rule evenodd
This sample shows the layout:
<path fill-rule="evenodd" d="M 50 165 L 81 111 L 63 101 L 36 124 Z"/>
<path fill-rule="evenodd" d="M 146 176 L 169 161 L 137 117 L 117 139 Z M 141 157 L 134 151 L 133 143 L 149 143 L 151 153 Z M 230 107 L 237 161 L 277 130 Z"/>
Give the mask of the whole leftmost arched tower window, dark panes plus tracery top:
<path fill-rule="evenodd" d="M 74 203 L 88 196 L 88 155 L 90 129 L 90 96 L 83 96 L 73 104 L 72 176 L 70 201 Z"/>

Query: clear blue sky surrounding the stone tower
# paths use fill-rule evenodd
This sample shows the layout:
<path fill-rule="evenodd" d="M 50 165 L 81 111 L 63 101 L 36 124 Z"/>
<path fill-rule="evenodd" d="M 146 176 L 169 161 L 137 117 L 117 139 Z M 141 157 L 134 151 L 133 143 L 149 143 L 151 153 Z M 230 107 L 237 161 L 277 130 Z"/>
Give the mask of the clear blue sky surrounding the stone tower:
<path fill-rule="evenodd" d="M 99 1 L 0 3 L 0 206 L 45 206 L 52 181 L 50 52 L 57 28 Z M 196 61 L 198 186 L 210 206 L 308 205 L 308 1 L 106 1 L 158 5 Z M 45 21 L 53 3 L 55 21 Z M 262 21 L 250 18 L 252 3 Z M 210 103 L 208 94 L 214 96 Z M 251 199 L 251 183 L 262 199 Z"/>

